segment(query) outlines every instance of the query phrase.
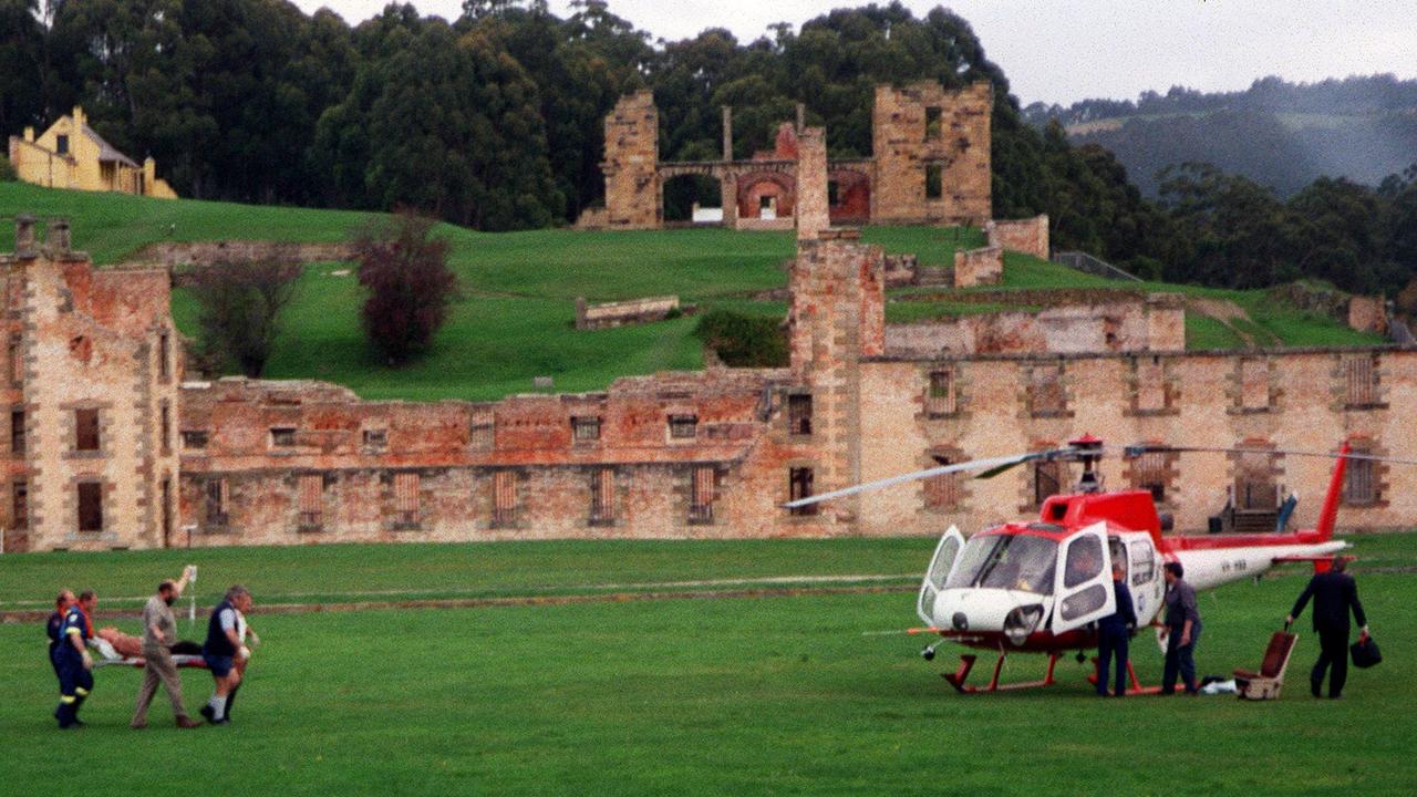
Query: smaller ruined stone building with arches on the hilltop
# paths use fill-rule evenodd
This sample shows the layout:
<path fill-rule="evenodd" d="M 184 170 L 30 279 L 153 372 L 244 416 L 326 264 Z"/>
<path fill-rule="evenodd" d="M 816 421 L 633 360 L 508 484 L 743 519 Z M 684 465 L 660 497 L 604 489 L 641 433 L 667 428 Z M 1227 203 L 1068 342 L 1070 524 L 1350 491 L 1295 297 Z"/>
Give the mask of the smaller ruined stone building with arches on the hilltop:
<path fill-rule="evenodd" d="M 990 218 L 990 130 L 993 88 L 961 89 L 917 82 L 876 88 L 871 157 L 828 165 L 833 224 L 973 224 Z M 665 183 L 697 174 L 718 180 L 723 224 L 740 230 L 789 230 L 798 213 L 799 136 L 778 128 L 775 146 L 751 159 L 733 156 L 733 116 L 724 108 L 723 159 L 662 162 L 659 111 L 649 91 L 621 98 L 605 118 L 605 207 L 587 211 L 582 227 L 663 227 Z M 1044 255 L 1046 257 L 1046 255 Z"/>

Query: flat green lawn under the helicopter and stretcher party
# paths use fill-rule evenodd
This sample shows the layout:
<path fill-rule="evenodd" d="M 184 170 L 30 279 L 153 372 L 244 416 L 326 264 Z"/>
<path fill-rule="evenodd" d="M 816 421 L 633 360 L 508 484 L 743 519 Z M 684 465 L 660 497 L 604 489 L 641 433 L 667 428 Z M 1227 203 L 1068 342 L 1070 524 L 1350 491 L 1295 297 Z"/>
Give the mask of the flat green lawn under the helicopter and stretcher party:
<path fill-rule="evenodd" d="M 680 576 L 918 570 L 932 540 L 332 546 L 193 552 L 210 581 L 256 586 L 258 650 L 227 728 L 179 732 L 159 698 L 126 728 L 136 671 L 101 669 L 61 736 L 37 624 L 0 625 L 7 794 L 1410 794 L 1417 535 L 1365 536 L 1355 572 L 1387 661 L 1348 699 L 1312 701 L 1306 625 L 1284 698 L 1100 701 L 1060 684 L 954 693 L 921 642 L 910 590 L 755 600 L 606 601 L 262 615 L 264 590 L 662 581 Z M 0 557 L 4 600 L 57 584 L 119 593 L 183 552 Z M 210 580 L 210 581 L 208 581 Z M 1204 674 L 1254 667 L 1302 570 L 1202 594 Z M 214 586 L 214 584 L 213 584 Z M 102 604 L 101 604 L 102 614 Z M 1305 618 L 1306 620 L 1306 618 Z M 102 621 L 102 617 L 101 617 Z M 136 623 L 118 623 L 136 630 Z M 186 630 L 186 621 L 180 621 Z M 944 651 L 945 648 L 942 648 Z M 1161 657 L 1134 642 L 1155 682 Z M 1015 657 L 1006 678 L 1040 672 Z M 184 671 L 197 708 L 210 678 Z M 82 753 L 79 753 L 82 750 Z"/>

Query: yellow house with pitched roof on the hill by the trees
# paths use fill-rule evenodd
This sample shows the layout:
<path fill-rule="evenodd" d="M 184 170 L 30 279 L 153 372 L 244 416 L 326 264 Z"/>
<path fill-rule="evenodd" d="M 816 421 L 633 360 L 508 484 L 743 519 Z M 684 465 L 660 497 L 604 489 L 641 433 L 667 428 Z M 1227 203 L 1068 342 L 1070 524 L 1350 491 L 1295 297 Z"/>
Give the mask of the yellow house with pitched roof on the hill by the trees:
<path fill-rule="evenodd" d="M 78 105 L 74 113 L 60 116 L 40 138 L 34 138 L 34 128 L 26 128 L 24 138 L 10 136 L 10 163 L 26 183 L 50 189 L 177 199 L 177 191 L 157 176 L 157 163 L 152 157 L 139 166 L 113 149 L 88 126 Z"/>

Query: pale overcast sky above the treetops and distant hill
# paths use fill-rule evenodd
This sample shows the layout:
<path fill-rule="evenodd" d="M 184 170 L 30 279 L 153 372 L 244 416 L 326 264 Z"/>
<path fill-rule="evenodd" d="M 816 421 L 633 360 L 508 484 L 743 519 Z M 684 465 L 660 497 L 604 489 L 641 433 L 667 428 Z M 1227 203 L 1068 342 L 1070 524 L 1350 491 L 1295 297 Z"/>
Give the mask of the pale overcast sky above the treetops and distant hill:
<path fill-rule="evenodd" d="M 387 0 L 295 0 L 327 6 L 350 24 Z M 740 40 L 778 21 L 799 27 L 853 0 L 609 0 L 611 11 L 656 38 L 686 38 L 726 27 Z M 941 4 L 905 0 L 917 16 Z M 1289 81 L 1393 72 L 1417 78 L 1417 0 L 954 0 L 985 54 L 1003 68 L 1013 94 L 1070 104 L 1134 99 L 1172 85 L 1243 89 L 1264 75 Z M 414 0 L 449 20 L 462 0 Z M 551 0 L 557 16 L 568 0 Z"/>

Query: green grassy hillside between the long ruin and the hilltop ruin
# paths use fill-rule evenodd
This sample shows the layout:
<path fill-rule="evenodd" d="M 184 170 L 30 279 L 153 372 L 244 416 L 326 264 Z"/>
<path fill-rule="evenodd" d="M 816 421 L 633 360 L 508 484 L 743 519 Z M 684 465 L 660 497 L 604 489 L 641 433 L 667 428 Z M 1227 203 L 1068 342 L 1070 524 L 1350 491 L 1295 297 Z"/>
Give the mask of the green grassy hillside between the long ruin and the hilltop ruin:
<path fill-rule="evenodd" d="M 74 245 L 89 251 L 98 264 L 122 262 L 142 247 L 164 240 L 340 241 L 366 217 L 351 211 L 149 200 L 0 183 L 0 216 L 23 211 L 68 216 Z M 439 233 L 452 243 L 449 261 L 462 296 L 427 357 L 402 369 L 383 364 L 360 330 L 363 289 L 350 264 L 312 264 L 288 311 L 285 335 L 266 374 L 324 379 L 368 398 L 497 398 L 531 391 L 536 376 L 554 377 L 557 391 L 601 390 L 618 376 L 700 367 L 694 319 L 577 332 L 572 326 L 577 296 L 612 301 L 677 294 L 700 309 L 727 308 L 778 318 L 786 308 L 782 301 L 755 301 L 751 295 L 786 284 L 782 262 L 794 251 L 789 233 L 696 228 L 487 234 L 452 225 L 439 227 Z M 863 238 L 888 252 L 917 254 L 925 265 L 949 262 L 955 247 L 982 243 L 978 230 L 927 227 L 870 227 Z M 0 251 L 10 248 L 13 225 L 4 224 Z M 1005 275 L 1005 288 L 1118 285 L 1015 254 L 1007 255 Z M 1377 342 L 1376 336 L 1350 332 L 1331 319 L 1274 306 L 1260 291 L 1166 284 L 1146 288 L 1224 299 L 1250 313 L 1246 323 L 1253 328 L 1190 313 L 1192 347 Z M 890 321 L 1033 309 L 1009 302 L 911 301 L 908 294 L 893 291 Z M 173 296 L 173 312 L 179 328 L 194 330 L 196 306 L 184 291 Z"/>

